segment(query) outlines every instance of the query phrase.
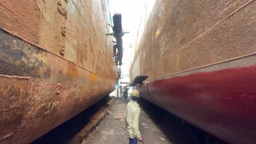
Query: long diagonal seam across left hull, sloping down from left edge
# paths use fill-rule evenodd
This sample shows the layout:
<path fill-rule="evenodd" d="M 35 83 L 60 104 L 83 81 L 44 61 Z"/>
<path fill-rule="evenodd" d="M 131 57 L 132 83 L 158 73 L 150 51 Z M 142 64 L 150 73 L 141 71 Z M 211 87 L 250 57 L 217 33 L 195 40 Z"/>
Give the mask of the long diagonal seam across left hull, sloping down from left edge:
<path fill-rule="evenodd" d="M 30 41 L 28 41 L 28 40 L 26 40 L 26 39 L 24 39 L 24 38 L 19 37 L 18 35 L 14 34 L 13 32 L 8 31 L 8 30 L 5 29 L 5 28 L 0 27 L 0 29 L 2 29 L 4 32 L 7 32 L 7 33 L 13 35 L 14 37 L 16 37 L 16 38 L 18 38 L 18 39 L 24 40 L 24 41 L 25 41 L 26 43 L 28 43 L 28 44 L 31 44 L 31 45 L 33 45 L 33 46 L 36 46 L 38 49 L 42 49 L 42 50 L 44 50 L 44 51 L 46 51 L 46 52 L 49 52 L 49 53 L 51 53 L 52 55 L 57 56 L 57 57 L 59 57 L 59 58 L 61 58 L 61 59 L 64 59 L 65 61 L 67 61 L 67 62 L 69 62 L 69 63 L 72 63 L 72 64 L 74 64 L 74 65 L 77 65 L 78 67 L 80 67 L 80 68 L 82 68 L 82 69 L 84 69 L 84 70 L 86 70 L 86 71 L 89 71 L 89 72 L 92 73 L 92 74 L 95 74 L 95 75 L 97 75 L 97 76 L 100 76 L 100 77 L 104 78 L 103 76 L 98 75 L 98 74 L 96 74 L 96 73 L 93 73 L 92 71 L 90 71 L 90 70 L 88 70 L 88 69 L 85 69 L 84 67 L 82 67 L 82 66 L 80 66 L 80 65 L 78 65 L 78 64 L 76 64 L 76 63 L 73 63 L 73 62 L 69 61 L 69 60 L 66 59 L 66 58 L 63 58 L 63 57 L 61 57 L 61 56 L 59 56 L 59 55 L 57 55 L 57 54 L 55 54 L 55 53 L 53 53 L 53 52 L 51 52 L 51 51 L 49 51 L 49 50 L 44 49 L 43 47 L 40 47 L 40 46 L 38 46 L 38 45 L 36 45 L 36 44 L 31 43 Z"/>

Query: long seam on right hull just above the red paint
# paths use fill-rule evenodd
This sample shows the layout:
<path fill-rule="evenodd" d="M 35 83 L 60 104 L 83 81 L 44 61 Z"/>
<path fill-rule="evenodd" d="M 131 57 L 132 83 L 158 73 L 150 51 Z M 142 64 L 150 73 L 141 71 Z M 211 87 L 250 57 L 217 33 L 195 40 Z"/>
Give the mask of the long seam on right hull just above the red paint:
<path fill-rule="evenodd" d="M 220 62 L 217 62 L 217 63 L 211 63 L 211 64 L 203 65 L 203 66 L 201 66 L 201 67 L 197 67 L 197 68 L 193 68 L 193 69 L 188 69 L 188 70 L 184 70 L 184 71 L 179 71 L 179 72 L 177 72 L 177 73 L 173 73 L 173 74 L 169 74 L 169 75 L 160 76 L 160 77 L 157 77 L 157 78 L 155 78 L 155 79 L 150 79 L 149 81 L 158 80 L 158 79 L 161 79 L 161 78 L 166 77 L 166 76 L 171 76 L 171 75 L 177 75 L 177 74 L 185 73 L 185 72 L 191 71 L 191 70 L 196 70 L 196 69 L 200 69 L 200 68 L 210 67 L 210 66 L 212 66 L 212 65 L 217 65 L 217 64 L 220 64 L 220 63 L 235 61 L 236 59 L 241 59 L 241 58 L 245 58 L 245 57 L 249 57 L 249 56 L 253 56 L 253 55 L 256 55 L 256 52 L 249 53 L 249 54 L 247 54 L 247 55 L 243 55 L 243 56 L 240 56 L 240 57 L 235 57 L 235 58 L 226 59 L 225 61 L 220 61 Z"/>

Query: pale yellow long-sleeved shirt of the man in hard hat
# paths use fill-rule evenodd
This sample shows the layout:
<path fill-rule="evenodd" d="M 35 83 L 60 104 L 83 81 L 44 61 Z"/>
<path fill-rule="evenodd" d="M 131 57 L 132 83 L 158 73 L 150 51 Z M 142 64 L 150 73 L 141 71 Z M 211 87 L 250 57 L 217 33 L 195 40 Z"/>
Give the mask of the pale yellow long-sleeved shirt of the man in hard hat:
<path fill-rule="evenodd" d="M 141 137 L 141 134 L 139 133 L 139 130 L 138 130 L 139 113 L 141 113 L 141 109 L 139 109 L 139 105 L 134 101 L 130 101 L 127 104 L 124 121 L 125 121 L 126 128 L 130 131 L 130 133 L 137 136 L 138 138 Z M 129 137 L 131 139 L 135 138 L 131 134 L 129 134 Z"/>

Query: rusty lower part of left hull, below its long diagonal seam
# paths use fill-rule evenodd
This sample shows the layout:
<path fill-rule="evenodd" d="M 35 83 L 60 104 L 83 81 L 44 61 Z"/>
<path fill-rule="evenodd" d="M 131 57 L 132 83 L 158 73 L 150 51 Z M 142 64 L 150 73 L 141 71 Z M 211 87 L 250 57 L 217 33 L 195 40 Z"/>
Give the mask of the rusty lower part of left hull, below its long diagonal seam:
<path fill-rule="evenodd" d="M 8 38 L 7 33 L 0 31 L 1 34 L 3 38 Z M 18 38 L 11 39 L 22 44 L 22 40 Z M 10 45 L 8 49 L 11 47 L 13 46 Z M 17 47 L 16 51 L 21 47 L 24 48 L 27 45 Z M 13 57 L 14 55 L 4 53 L 6 48 L 5 45 L 0 46 L 0 57 Z M 38 49 L 31 45 L 29 48 L 31 51 Z M 8 67 L 4 70 L 9 71 L 9 74 L 31 78 L 0 77 L 0 134 L 5 137 L 14 133 L 3 138 L 2 143 L 13 143 L 13 140 L 20 140 L 21 137 L 21 143 L 32 141 L 96 103 L 114 89 L 114 79 L 93 84 L 91 82 L 104 78 L 43 50 L 39 50 L 38 55 L 26 55 L 25 63 L 9 63 L 9 59 L 1 59 L 1 63 L 8 63 Z M 33 68 L 35 66 L 30 64 L 33 63 L 31 62 L 34 61 L 33 59 L 37 59 L 36 61 L 42 62 L 41 64 L 47 67 L 38 67 L 38 70 Z M 33 70 L 22 71 L 20 68 Z M 56 94 L 58 83 L 61 83 L 60 94 Z"/>

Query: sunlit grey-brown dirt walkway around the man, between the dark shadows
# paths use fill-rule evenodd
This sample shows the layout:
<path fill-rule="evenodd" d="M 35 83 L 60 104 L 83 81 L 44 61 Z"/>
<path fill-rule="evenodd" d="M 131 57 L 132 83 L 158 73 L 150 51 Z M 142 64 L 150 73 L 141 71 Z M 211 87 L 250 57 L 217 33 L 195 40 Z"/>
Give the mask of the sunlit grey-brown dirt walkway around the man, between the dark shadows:
<path fill-rule="evenodd" d="M 122 103 L 120 100 L 115 100 L 114 104 L 110 107 L 110 115 L 106 116 L 100 125 L 98 125 L 98 131 L 95 134 L 91 134 L 90 144 L 103 144 L 103 143 L 129 143 L 129 137 L 127 132 L 121 127 L 124 125 L 123 119 L 113 119 L 115 108 L 118 103 Z M 169 141 L 161 129 L 156 125 L 152 118 L 141 109 L 141 116 L 139 120 L 139 130 L 147 144 L 165 144 L 172 143 Z"/>

